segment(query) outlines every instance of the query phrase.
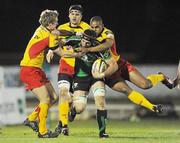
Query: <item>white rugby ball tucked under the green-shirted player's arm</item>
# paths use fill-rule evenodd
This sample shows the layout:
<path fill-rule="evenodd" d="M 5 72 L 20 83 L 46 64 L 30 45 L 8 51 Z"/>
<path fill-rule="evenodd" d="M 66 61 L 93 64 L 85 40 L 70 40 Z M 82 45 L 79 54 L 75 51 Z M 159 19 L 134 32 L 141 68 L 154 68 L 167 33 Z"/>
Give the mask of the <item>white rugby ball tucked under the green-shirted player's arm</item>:
<path fill-rule="evenodd" d="M 94 72 L 102 73 L 102 72 L 104 72 L 107 69 L 107 67 L 108 67 L 107 63 L 103 59 L 98 58 L 93 63 L 91 72 L 92 72 L 92 74 Z"/>

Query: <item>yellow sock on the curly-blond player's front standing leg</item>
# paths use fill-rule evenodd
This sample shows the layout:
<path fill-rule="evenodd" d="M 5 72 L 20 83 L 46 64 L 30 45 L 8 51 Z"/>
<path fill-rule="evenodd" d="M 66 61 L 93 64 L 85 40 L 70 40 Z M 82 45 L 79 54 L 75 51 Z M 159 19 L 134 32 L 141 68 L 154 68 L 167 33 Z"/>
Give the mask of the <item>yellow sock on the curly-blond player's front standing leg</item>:
<path fill-rule="evenodd" d="M 40 103 L 39 104 L 40 112 L 39 112 L 39 132 L 40 134 L 47 133 L 47 127 L 46 127 L 46 118 L 48 115 L 48 109 L 49 105 L 46 103 Z"/>

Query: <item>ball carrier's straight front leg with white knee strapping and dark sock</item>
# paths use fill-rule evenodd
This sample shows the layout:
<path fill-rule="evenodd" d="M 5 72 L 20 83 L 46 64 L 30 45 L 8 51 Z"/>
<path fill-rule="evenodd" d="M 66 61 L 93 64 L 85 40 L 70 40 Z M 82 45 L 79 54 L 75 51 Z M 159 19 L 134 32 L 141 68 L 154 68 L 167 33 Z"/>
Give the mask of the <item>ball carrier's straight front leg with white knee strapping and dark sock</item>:
<path fill-rule="evenodd" d="M 92 85 L 92 93 L 94 95 L 95 104 L 97 108 L 97 123 L 99 127 L 99 137 L 108 138 L 109 135 L 106 134 L 106 120 L 107 120 L 107 110 L 105 103 L 105 84 L 102 81 L 96 81 Z"/>

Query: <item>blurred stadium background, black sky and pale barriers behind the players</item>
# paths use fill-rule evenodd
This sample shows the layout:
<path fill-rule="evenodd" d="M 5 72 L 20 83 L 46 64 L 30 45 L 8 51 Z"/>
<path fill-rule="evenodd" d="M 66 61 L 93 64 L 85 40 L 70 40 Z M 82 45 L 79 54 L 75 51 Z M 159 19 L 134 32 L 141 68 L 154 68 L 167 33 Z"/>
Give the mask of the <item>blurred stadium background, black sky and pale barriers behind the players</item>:
<path fill-rule="evenodd" d="M 0 5 L 0 124 L 22 123 L 25 115 L 33 110 L 37 100 L 24 90 L 19 81 L 19 62 L 26 44 L 35 28 L 42 10 L 55 9 L 60 13 L 59 24 L 68 21 L 71 4 L 82 4 L 83 20 L 89 22 L 99 15 L 106 27 L 116 37 L 117 48 L 122 57 L 128 59 L 145 76 L 164 72 L 169 77 L 176 76 L 180 58 L 180 6 L 170 0 L 114 0 L 114 1 L 2 1 Z M 51 65 L 45 63 L 45 70 L 57 90 L 56 58 Z M 138 121 L 143 118 L 179 119 L 180 90 L 167 89 L 159 84 L 142 92 L 153 103 L 166 105 L 166 112 L 157 116 L 131 103 L 121 93 L 107 87 L 108 118 Z M 89 96 L 86 111 L 77 119 L 95 117 L 93 97 Z M 51 109 L 49 120 L 57 120 L 56 106 Z M 15 118 L 13 118 L 15 117 Z"/>

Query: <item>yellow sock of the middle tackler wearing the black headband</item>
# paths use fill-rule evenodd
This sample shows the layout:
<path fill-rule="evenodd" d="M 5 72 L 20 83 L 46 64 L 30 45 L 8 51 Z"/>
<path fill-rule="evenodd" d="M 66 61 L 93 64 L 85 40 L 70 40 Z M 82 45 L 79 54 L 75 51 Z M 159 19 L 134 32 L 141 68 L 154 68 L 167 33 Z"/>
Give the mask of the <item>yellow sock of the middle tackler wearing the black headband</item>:
<path fill-rule="evenodd" d="M 62 122 L 62 126 L 68 124 L 68 112 L 69 112 L 69 102 L 60 103 L 58 105 L 59 109 L 59 120 Z"/>

